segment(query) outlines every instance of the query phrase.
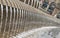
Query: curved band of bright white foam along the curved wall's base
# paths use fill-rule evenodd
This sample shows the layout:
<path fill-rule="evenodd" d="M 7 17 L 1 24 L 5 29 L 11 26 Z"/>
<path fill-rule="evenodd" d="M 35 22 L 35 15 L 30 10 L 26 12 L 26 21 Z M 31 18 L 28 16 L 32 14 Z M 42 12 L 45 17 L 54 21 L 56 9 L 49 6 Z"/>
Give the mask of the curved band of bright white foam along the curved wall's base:
<path fill-rule="evenodd" d="M 59 27 L 49 26 L 49 27 L 41 27 L 41 28 L 37 28 L 37 29 L 32 29 L 32 30 L 29 30 L 27 32 L 23 32 L 21 34 L 18 34 L 18 35 L 16 35 L 16 37 L 17 38 L 24 38 L 24 37 L 27 37 L 28 35 L 35 33 L 35 32 L 44 31 L 44 30 L 47 31 L 47 30 L 51 30 L 54 28 L 59 28 Z"/>

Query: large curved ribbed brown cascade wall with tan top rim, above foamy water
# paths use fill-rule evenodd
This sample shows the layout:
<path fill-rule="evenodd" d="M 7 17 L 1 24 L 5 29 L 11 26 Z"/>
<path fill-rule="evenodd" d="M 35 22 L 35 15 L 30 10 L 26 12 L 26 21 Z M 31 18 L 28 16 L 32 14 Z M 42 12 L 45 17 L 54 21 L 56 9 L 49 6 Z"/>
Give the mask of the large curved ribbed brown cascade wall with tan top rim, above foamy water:
<path fill-rule="evenodd" d="M 12 38 L 43 26 L 60 26 L 60 20 L 19 0 L 0 0 L 0 38 Z"/>

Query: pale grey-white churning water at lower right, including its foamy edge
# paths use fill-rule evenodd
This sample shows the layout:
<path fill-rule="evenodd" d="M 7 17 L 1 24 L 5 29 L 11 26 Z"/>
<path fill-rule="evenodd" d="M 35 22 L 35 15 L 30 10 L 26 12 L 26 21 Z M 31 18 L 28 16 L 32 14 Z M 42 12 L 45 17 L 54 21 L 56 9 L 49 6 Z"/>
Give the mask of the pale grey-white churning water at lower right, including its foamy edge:
<path fill-rule="evenodd" d="M 59 27 L 42 27 L 23 32 L 16 36 L 17 38 L 60 38 Z M 15 37 L 15 38 L 16 38 Z"/>

